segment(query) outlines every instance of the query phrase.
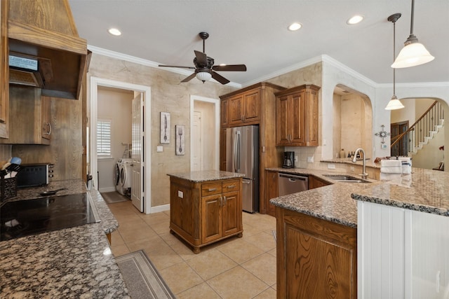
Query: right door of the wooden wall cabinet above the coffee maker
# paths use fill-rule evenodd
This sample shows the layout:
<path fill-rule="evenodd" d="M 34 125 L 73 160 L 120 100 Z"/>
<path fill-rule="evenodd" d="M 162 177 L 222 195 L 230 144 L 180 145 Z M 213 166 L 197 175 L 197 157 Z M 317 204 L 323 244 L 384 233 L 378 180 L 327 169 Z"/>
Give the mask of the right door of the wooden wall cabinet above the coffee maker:
<path fill-rule="evenodd" d="M 290 145 L 302 146 L 304 145 L 304 95 L 305 92 L 298 92 L 295 95 L 290 95 L 290 120 L 288 126 L 290 127 L 291 139 Z"/>

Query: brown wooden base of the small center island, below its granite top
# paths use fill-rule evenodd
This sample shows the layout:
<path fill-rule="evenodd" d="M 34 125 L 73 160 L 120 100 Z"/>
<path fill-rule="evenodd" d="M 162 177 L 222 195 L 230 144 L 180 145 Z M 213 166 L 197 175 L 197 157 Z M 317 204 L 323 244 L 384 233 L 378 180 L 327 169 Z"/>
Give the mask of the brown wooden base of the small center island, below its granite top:
<path fill-rule="evenodd" d="M 242 236 L 241 179 L 196 183 L 170 176 L 170 232 L 194 253 L 221 239 Z"/>

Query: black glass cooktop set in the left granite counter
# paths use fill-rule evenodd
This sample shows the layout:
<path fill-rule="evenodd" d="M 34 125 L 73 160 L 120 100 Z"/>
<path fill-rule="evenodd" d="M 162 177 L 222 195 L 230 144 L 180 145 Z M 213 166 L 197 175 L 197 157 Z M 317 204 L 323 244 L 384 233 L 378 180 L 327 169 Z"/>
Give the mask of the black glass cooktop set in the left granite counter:
<path fill-rule="evenodd" d="M 0 207 L 0 241 L 95 222 L 87 193 L 6 202 Z"/>

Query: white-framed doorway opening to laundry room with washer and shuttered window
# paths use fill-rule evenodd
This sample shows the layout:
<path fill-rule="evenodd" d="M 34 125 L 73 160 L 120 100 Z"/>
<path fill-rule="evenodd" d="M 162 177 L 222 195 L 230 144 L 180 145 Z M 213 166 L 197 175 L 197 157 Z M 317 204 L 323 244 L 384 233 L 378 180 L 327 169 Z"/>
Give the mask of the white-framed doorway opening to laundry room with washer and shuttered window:
<path fill-rule="evenodd" d="M 126 195 L 145 214 L 151 213 L 151 181 L 142 179 L 151 177 L 151 141 L 143 143 L 145 131 L 151 132 L 150 96 L 147 86 L 91 77 L 88 166 L 93 186 L 100 193 Z"/>

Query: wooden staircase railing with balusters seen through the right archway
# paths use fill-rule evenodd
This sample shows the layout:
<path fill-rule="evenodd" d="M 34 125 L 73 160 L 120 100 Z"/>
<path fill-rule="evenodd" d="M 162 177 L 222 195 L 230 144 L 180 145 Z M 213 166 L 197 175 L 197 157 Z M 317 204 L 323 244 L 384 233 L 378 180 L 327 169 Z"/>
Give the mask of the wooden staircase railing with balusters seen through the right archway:
<path fill-rule="evenodd" d="M 408 151 L 413 151 L 413 148 L 420 145 L 420 142 L 425 141 L 425 137 L 430 136 L 430 132 L 435 130 L 435 126 L 439 125 L 439 121 L 444 119 L 443 107 L 438 101 L 435 101 L 427 111 L 422 113 L 422 116 L 411 125 L 406 132 L 391 137 L 391 146 L 398 144 L 404 138 L 408 138 L 408 143 L 411 148 Z"/>

